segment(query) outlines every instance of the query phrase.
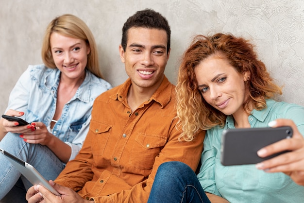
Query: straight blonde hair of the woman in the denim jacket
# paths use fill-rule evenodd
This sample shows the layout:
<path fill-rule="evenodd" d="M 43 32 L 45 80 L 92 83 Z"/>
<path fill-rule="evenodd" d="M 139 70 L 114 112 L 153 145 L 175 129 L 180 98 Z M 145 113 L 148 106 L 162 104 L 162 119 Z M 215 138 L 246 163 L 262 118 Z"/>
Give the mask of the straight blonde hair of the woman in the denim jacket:
<path fill-rule="evenodd" d="M 56 68 L 51 54 L 50 45 L 50 37 L 54 32 L 68 37 L 84 40 L 91 50 L 87 55 L 86 68 L 97 77 L 103 78 L 99 68 L 98 51 L 94 36 L 83 20 L 71 14 L 65 14 L 54 18 L 47 27 L 43 39 L 41 55 L 43 63 L 48 68 Z"/>

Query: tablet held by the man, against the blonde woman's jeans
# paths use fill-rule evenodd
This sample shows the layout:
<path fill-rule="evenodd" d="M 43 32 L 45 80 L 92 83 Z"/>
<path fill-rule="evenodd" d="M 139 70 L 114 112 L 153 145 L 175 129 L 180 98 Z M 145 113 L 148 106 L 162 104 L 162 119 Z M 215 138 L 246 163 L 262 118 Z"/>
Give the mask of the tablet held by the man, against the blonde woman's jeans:
<path fill-rule="evenodd" d="M 22 161 L 13 154 L 0 149 L 0 152 L 26 177 L 33 185 L 41 185 L 50 190 L 53 194 L 60 194 L 44 179 L 44 177 L 29 163 Z"/>

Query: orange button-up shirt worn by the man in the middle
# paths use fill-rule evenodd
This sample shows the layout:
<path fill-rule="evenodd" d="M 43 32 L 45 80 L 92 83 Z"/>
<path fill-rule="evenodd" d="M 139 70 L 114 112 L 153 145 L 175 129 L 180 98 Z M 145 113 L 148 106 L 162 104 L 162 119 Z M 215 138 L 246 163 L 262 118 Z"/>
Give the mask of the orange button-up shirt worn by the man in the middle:
<path fill-rule="evenodd" d="M 182 161 L 197 168 L 204 132 L 191 142 L 178 139 L 175 86 L 165 77 L 132 113 L 130 85 L 128 79 L 95 100 L 84 145 L 56 183 L 96 203 L 145 203 L 160 164 Z"/>

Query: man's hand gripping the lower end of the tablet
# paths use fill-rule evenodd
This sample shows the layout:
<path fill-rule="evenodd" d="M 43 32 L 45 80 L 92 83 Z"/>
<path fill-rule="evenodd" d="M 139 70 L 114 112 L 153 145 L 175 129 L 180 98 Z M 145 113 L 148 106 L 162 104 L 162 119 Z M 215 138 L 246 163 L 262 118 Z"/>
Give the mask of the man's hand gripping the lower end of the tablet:
<path fill-rule="evenodd" d="M 60 186 L 51 180 L 49 182 L 61 196 L 56 196 L 43 186 L 36 185 L 30 187 L 26 193 L 28 203 L 94 203 L 94 201 L 84 200 L 68 187 Z"/>

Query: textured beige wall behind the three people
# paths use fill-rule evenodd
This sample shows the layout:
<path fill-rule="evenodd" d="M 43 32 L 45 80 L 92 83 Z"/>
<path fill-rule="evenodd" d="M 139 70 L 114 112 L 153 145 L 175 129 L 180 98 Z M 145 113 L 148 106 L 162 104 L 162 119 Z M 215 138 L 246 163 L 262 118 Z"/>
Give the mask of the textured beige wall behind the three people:
<path fill-rule="evenodd" d="M 41 38 L 52 18 L 82 18 L 98 43 L 102 73 L 112 85 L 126 78 L 118 46 L 125 20 L 152 8 L 171 26 L 166 75 L 175 83 L 178 60 L 195 34 L 230 32 L 252 39 L 279 85 L 282 99 L 304 105 L 304 0 L 0 0 L 0 112 L 20 74 L 42 63 Z"/>

